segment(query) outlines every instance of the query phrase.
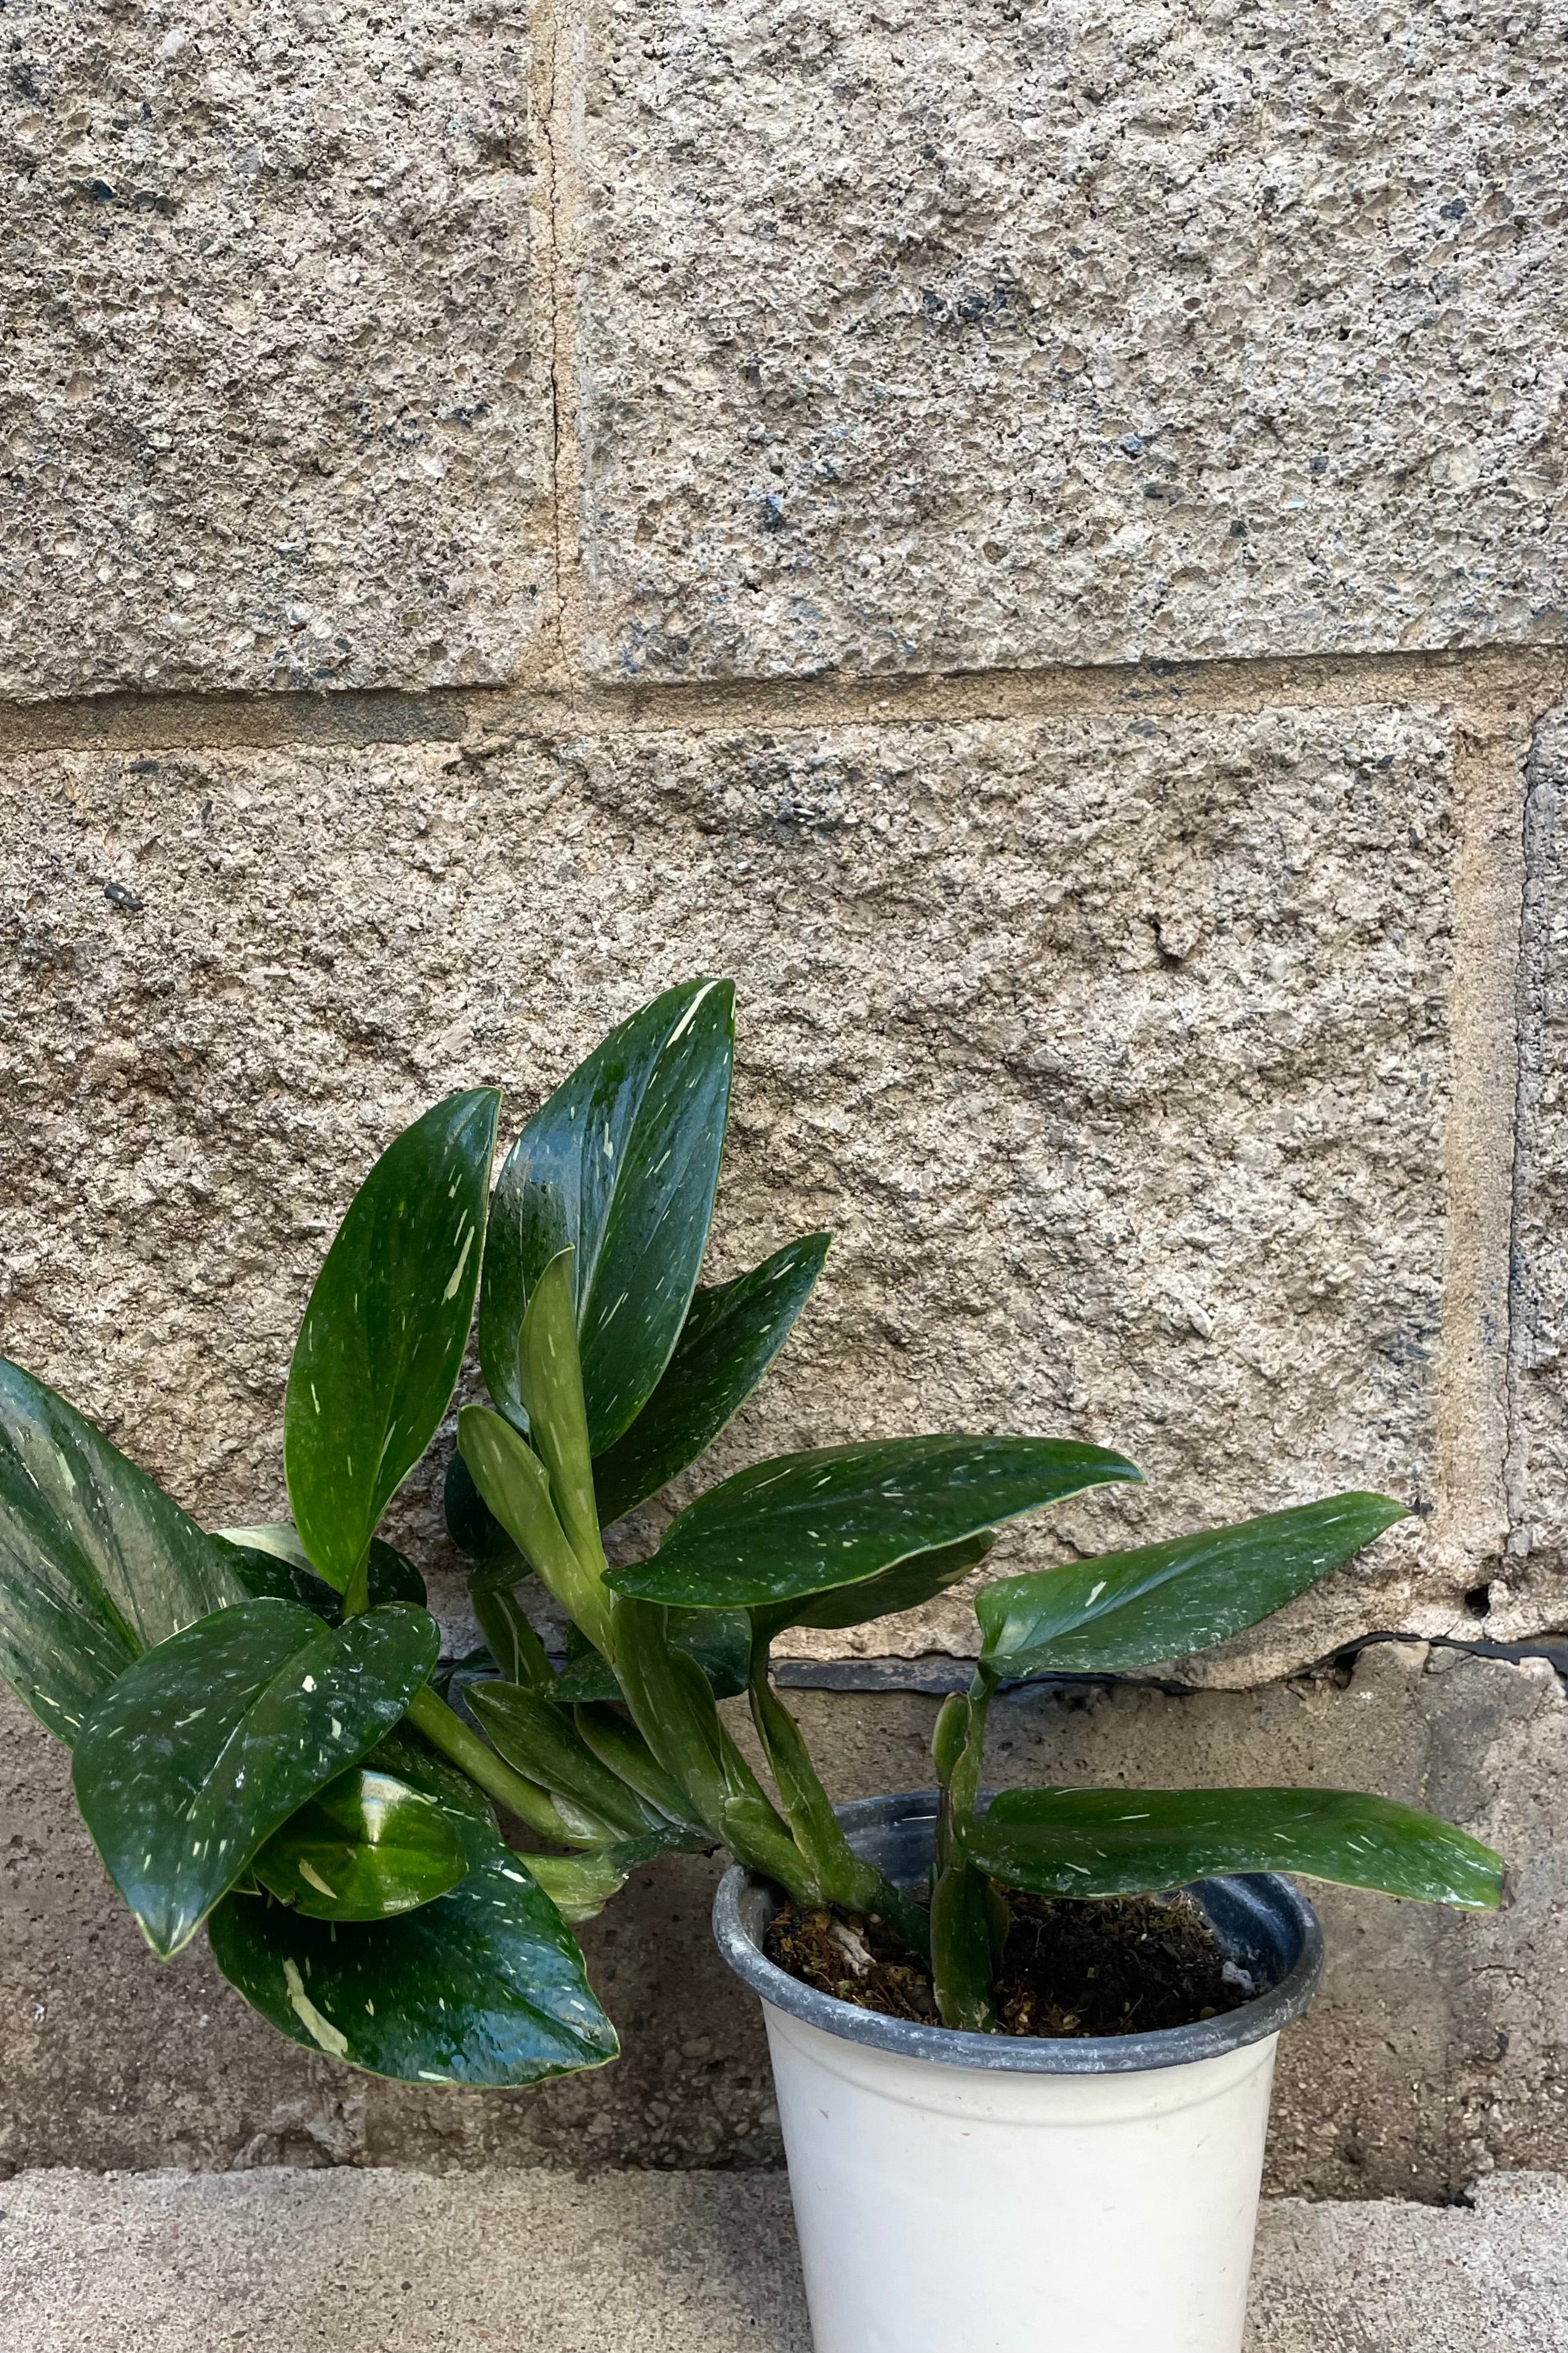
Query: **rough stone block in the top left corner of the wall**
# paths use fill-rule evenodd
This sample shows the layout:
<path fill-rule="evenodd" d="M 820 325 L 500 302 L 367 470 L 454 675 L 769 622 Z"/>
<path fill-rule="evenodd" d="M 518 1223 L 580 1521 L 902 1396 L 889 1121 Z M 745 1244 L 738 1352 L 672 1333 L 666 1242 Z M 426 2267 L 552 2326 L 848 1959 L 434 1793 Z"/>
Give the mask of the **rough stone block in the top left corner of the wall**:
<path fill-rule="evenodd" d="M 552 598 L 527 0 L 21 0 L 0 47 L 0 689 L 510 678 Z"/>

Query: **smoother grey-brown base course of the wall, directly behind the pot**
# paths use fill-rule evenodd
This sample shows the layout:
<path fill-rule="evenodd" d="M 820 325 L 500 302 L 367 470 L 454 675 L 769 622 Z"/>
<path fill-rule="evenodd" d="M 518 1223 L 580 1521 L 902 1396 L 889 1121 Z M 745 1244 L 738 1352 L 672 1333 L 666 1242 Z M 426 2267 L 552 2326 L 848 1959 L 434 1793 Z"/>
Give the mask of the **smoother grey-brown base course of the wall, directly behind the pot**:
<path fill-rule="evenodd" d="M 929 1784 L 936 1701 L 790 1706 L 835 1795 Z M 275 2035 L 205 1948 L 150 1958 L 75 1817 L 66 1753 L 2 1708 L 0 2172 L 778 2162 L 762 2021 L 708 1934 L 717 1861 L 642 1873 L 583 1929 L 616 2066 L 538 2092 L 374 2082 Z M 1281 2045 L 1267 2179 L 1453 2198 L 1476 2172 L 1568 2165 L 1568 1711 L 1542 1661 L 1378 1645 L 1347 1687 L 1032 1692 L 997 1706 L 990 1767 L 999 1784 L 1363 1786 L 1493 1840 L 1514 1878 L 1495 1918 L 1314 1892 L 1328 1977 Z"/>

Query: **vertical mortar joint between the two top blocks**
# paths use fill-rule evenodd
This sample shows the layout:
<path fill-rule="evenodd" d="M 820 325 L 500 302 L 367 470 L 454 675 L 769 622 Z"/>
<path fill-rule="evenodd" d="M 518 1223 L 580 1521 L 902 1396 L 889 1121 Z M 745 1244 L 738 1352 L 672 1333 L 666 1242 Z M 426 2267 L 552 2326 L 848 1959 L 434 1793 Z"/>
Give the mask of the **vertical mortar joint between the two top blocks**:
<path fill-rule="evenodd" d="M 576 711 L 583 647 L 583 452 L 576 395 L 578 146 L 583 19 L 574 0 L 536 0 L 534 120 L 545 158 L 541 278 L 550 372 L 550 515 L 555 529 L 555 659 Z"/>

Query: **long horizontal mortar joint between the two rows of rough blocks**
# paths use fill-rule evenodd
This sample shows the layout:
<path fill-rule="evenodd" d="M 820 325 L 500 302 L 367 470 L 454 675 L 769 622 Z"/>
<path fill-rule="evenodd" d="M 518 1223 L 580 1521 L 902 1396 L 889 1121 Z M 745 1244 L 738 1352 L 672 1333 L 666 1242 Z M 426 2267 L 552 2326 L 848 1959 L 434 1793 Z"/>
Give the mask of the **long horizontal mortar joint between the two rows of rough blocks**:
<path fill-rule="evenodd" d="M 1566 692 L 1568 649 L 1526 645 L 1392 654 L 736 678 L 649 685 L 317 687 L 221 694 L 80 694 L 0 704 L 0 758 L 52 751 L 266 751 L 501 744 L 520 736 L 722 727 L 889 727 L 1053 715 L 1354 708 L 1443 701 L 1516 718 Z"/>

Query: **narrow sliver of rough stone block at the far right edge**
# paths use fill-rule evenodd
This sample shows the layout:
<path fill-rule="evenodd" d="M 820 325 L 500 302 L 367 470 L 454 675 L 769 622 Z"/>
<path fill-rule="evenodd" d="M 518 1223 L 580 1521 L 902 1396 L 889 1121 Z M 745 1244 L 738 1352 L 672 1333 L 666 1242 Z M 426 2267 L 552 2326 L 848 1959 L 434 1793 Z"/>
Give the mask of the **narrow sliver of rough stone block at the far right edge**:
<path fill-rule="evenodd" d="M 1568 1628 L 1568 718 L 1530 758 L 1502 1605 Z"/>

